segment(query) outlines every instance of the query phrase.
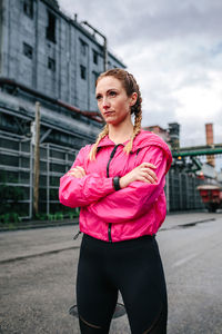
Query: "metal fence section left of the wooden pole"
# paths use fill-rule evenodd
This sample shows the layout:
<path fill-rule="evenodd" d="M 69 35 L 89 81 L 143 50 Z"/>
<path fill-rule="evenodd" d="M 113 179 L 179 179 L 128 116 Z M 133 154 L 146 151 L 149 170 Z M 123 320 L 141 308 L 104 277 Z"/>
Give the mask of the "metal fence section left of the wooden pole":
<path fill-rule="evenodd" d="M 32 215 L 32 146 L 30 139 L 0 132 L 1 213 Z"/>

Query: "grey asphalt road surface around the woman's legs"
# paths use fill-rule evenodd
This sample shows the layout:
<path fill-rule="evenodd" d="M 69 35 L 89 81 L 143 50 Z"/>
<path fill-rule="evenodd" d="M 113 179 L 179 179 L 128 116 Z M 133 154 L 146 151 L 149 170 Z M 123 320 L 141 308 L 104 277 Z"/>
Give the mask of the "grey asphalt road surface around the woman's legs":
<path fill-rule="evenodd" d="M 69 314 L 75 303 L 77 230 L 0 233 L 0 333 L 79 334 Z M 221 237 L 222 213 L 167 217 L 157 239 L 169 293 L 168 334 L 222 333 Z M 112 321 L 110 334 L 128 333 L 127 315 Z"/>

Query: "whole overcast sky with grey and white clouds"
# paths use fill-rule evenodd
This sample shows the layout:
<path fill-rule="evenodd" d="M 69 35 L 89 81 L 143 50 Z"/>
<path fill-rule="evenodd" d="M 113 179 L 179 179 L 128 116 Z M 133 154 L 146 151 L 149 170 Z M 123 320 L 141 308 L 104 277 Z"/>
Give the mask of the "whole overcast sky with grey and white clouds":
<path fill-rule="evenodd" d="M 182 146 L 222 143 L 222 0 L 59 0 L 107 36 L 143 98 L 143 126 L 181 125 Z M 222 166 L 221 166 L 222 167 Z"/>

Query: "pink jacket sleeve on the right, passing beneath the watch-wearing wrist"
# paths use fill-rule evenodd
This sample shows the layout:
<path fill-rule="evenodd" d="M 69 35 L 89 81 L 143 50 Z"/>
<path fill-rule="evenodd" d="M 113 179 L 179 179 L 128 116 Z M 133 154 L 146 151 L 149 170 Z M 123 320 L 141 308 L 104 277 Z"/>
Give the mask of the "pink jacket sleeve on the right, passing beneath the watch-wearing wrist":
<path fill-rule="evenodd" d="M 148 149 L 140 164 L 148 161 L 157 166 L 157 184 L 133 181 L 105 198 L 89 206 L 89 212 L 107 223 L 123 223 L 142 216 L 158 200 L 165 183 L 167 157 L 159 147 Z"/>

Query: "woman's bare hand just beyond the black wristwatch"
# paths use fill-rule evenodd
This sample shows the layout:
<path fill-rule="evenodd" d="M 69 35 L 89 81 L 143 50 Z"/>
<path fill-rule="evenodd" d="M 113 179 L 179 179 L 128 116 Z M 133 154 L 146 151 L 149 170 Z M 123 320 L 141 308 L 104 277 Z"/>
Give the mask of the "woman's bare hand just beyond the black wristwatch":
<path fill-rule="evenodd" d="M 142 163 L 140 166 L 132 169 L 120 178 L 120 187 L 125 188 L 129 184 L 135 180 L 140 180 L 148 184 L 155 184 L 158 177 L 152 169 L 157 167 L 150 163 Z"/>

